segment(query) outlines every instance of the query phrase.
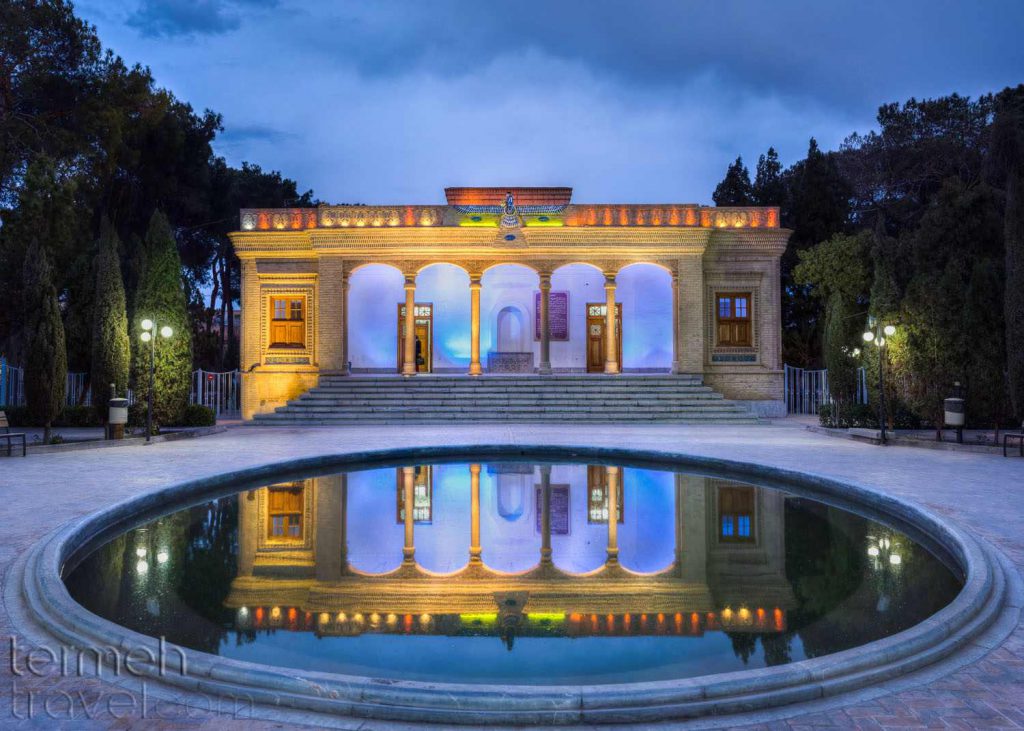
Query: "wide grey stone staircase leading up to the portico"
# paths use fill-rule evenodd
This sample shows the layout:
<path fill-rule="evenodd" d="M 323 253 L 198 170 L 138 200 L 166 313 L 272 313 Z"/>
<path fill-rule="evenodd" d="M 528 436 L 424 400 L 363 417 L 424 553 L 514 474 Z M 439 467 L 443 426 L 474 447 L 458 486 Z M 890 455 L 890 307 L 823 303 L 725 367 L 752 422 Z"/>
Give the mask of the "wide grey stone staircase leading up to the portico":
<path fill-rule="evenodd" d="M 262 425 L 458 422 L 757 424 L 699 376 L 324 376 Z"/>

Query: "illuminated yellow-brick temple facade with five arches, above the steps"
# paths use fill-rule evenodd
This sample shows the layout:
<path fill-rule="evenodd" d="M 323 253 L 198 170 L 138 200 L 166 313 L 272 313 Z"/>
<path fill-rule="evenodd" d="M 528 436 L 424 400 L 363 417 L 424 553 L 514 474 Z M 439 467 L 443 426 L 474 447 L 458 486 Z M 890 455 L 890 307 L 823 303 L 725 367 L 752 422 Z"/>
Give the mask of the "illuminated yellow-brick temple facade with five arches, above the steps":
<path fill-rule="evenodd" d="M 444 192 L 241 212 L 244 418 L 385 374 L 687 374 L 781 407 L 778 209 Z"/>

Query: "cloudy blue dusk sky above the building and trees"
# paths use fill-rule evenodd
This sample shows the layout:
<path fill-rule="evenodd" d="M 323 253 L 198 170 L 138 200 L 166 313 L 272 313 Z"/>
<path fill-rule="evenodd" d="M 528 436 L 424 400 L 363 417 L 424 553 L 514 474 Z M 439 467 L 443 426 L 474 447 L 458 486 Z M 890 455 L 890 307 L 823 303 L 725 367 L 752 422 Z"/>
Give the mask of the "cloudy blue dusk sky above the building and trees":
<path fill-rule="evenodd" d="M 326 203 L 570 185 L 710 204 L 726 166 L 837 148 L 882 103 L 1024 82 L 1021 0 L 81 0 L 224 120 L 215 150 Z"/>

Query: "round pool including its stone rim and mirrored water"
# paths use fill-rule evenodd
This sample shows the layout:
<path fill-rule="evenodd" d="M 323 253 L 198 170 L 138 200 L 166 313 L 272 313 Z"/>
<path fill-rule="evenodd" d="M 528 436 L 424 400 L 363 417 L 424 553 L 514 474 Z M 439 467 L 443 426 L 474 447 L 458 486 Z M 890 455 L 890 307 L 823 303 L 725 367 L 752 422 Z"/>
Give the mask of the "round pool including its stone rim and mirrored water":
<path fill-rule="evenodd" d="M 952 652 L 1002 591 L 969 536 L 855 485 L 596 448 L 258 468 L 134 499 L 35 553 L 30 603 L 75 646 L 134 647 L 202 692 L 444 723 L 844 692 Z"/>

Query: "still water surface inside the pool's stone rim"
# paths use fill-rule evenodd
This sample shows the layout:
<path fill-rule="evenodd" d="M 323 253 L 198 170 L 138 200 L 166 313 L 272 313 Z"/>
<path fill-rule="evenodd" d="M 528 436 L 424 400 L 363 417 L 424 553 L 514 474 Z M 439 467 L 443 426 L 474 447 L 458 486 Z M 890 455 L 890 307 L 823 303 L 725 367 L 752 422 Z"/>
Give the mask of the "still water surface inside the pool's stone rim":
<path fill-rule="evenodd" d="M 884 524 L 631 466 L 482 462 L 249 489 L 114 538 L 72 596 L 236 659 L 391 679 L 621 683 L 905 630 L 961 578 Z"/>

